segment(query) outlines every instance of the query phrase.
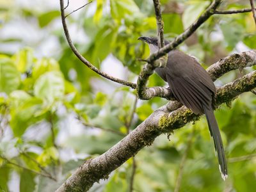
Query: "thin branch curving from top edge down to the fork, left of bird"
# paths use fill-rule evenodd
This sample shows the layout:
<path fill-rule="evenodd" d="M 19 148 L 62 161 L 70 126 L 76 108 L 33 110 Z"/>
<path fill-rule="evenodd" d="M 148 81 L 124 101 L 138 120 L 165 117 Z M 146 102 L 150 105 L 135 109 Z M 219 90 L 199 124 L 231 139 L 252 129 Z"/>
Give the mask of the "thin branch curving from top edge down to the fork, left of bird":
<path fill-rule="evenodd" d="M 90 63 L 89 61 L 86 60 L 86 58 L 83 57 L 80 54 L 80 52 L 77 51 L 77 49 L 76 49 L 75 45 L 73 44 L 73 42 L 71 40 L 71 37 L 69 35 L 67 23 L 66 23 L 66 20 L 65 20 L 65 7 L 64 7 L 63 0 L 60 0 L 60 12 L 61 12 L 61 20 L 62 20 L 63 30 L 65 32 L 65 36 L 67 38 L 68 45 L 70 46 L 70 48 L 72 49 L 74 54 L 76 54 L 77 58 L 80 61 L 82 61 L 87 67 L 89 67 L 91 70 L 93 70 L 94 72 L 99 74 L 100 76 L 105 77 L 106 79 L 109 79 L 111 81 L 115 81 L 116 83 L 124 84 L 126 86 L 130 86 L 131 88 L 136 88 L 136 84 L 135 83 L 131 83 L 131 82 L 125 81 L 123 79 L 118 79 L 116 77 L 109 76 L 109 74 L 106 74 L 105 72 L 102 72 L 101 70 L 99 70 L 99 68 L 97 68 L 94 65 L 92 65 L 92 63 Z"/>

